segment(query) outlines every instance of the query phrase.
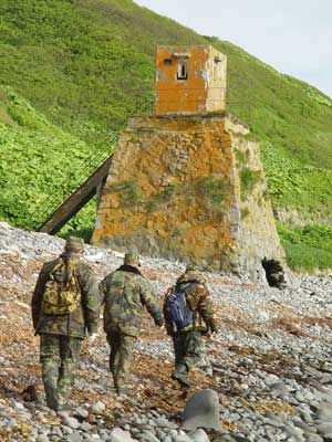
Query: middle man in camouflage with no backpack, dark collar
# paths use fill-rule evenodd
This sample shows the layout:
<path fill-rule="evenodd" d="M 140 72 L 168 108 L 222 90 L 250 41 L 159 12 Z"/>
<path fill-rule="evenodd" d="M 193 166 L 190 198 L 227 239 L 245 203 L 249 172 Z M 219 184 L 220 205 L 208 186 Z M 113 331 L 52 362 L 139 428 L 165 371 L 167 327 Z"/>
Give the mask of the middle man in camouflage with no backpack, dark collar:
<path fill-rule="evenodd" d="M 110 370 L 118 396 L 128 392 L 131 360 L 141 333 L 144 307 L 157 326 L 164 325 L 156 295 L 139 270 L 137 253 L 126 253 L 124 265 L 108 274 L 100 284 L 104 295 L 104 330 L 111 346 Z"/>

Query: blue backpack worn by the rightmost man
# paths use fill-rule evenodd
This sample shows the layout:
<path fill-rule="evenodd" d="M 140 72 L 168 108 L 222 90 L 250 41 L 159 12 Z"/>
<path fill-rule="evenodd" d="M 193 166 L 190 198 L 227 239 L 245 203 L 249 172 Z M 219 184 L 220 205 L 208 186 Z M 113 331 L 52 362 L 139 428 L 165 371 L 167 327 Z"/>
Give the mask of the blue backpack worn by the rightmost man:
<path fill-rule="evenodd" d="M 189 284 L 186 288 L 180 288 L 180 286 L 176 285 L 175 290 L 165 301 L 165 319 L 168 323 L 173 323 L 174 332 L 179 332 L 194 323 L 195 314 L 186 298 L 186 292 L 193 287 L 193 285 L 195 285 L 195 283 Z"/>

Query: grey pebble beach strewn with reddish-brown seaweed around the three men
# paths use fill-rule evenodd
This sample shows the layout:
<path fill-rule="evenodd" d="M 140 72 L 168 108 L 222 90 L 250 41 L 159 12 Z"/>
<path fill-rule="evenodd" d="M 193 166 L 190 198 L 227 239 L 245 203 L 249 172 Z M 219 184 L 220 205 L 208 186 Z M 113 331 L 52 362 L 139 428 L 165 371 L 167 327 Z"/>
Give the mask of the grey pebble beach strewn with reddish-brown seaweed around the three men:
<path fill-rule="evenodd" d="M 218 305 L 220 333 L 206 340 L 212 376 L 190 373 L 189 392 L 170 380 L 169 338 L 147 318 L 135 350 L 132 396 L 120 401 L 107 371 L 103 332 L 85 341 L 75 377 L 72 415 L 45 407 L 30 299 L 42 263 L 63 240 L 0 223 L 0 440 L 145 442 L 332 441 L 332 277 L 289 277 L 288 288 L 206 274 Z M 122 262 L 86 248 L 102 278 Z M 143 259 L 143 273 L 160 295 L 184 270 Z M 209 370 L 206 370 L 209 371 Z M 212 388 L 220 432 L 185 432 L 180 413 L 194 391 Z"/>

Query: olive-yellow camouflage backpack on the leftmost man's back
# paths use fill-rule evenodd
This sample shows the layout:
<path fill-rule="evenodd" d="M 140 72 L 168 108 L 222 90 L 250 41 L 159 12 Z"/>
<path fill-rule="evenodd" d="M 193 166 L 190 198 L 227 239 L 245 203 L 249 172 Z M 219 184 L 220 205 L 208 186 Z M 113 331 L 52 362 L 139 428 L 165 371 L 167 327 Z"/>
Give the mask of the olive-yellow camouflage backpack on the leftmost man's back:
<path fill-rule="evenodd" d="M 42 297 L 41 308 L 45 315 L 69 315 L 80 306 L 81 287 L 75 275 L 77 262 L 77 260 L 69 260 L 66 267 L 60 257 L 53 267 Z"/>

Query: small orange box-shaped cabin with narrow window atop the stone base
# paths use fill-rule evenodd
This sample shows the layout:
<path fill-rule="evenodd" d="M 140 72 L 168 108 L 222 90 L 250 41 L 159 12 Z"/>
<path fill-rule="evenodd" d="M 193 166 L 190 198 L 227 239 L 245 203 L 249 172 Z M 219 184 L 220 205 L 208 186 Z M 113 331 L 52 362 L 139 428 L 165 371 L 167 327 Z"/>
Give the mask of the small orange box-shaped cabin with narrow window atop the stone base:
<path fill-rule="evenodd" d="M 156 114 L 222 110 L 226 66 L 210 45 L 157 46 Z"/>

